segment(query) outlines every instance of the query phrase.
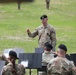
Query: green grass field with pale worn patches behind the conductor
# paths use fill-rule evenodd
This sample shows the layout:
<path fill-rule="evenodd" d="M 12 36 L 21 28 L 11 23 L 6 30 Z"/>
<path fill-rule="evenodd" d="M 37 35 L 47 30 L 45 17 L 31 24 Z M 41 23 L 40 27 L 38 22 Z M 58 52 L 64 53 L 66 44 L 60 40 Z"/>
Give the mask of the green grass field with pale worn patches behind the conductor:
<path fill-rule="evenodd" d="M 26 29 L 33 31 L 41 24 L 40 16 L 46 14 L 57 34 L 57 46 L 66 44 L 68 53 L 76 52 L 76 0 L 51 0 L 47 10 L 45 0 L 33 3 L 0 4 L 0 53 L 6 48 L 19 47 L 34 52 L 38 37 L 29 38 Z"/>

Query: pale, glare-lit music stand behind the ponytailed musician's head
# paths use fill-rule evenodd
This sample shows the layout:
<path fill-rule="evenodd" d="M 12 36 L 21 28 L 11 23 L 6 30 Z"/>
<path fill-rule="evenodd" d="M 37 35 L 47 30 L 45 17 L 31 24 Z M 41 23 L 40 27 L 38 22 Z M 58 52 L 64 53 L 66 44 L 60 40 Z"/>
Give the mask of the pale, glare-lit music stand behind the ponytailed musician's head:
<path fill-rule="evenodd" d="M 10 52 L 11 50 L 13 50 L 13 51 L 15 51 L 15 52 L 17 53 L 17 57 L 18 57 L 18 58 L 19 58 L 19 54 L 20 54 L 20 53 L 24 53 L 24 49 L 22 49 L 22 48 L 9 48 L 9 49 L 5 49 L 5 50 L 4 50 L 4 55 L 5 55 L 6 57 L 8 57 L 8 56 L 9 56 L 9 52 Z"/>

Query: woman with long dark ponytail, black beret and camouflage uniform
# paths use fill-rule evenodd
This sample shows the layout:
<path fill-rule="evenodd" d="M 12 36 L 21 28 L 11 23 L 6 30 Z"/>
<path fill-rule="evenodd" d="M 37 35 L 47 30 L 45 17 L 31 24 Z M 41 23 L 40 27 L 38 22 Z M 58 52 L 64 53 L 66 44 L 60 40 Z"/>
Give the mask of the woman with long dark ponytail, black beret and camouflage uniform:
<path fill-rule="evenodd" d="M 14 51 L 9 52 L 10 62 L 2 69 L 2 75 L 24 75 L 25 68 L 21 64 L 16 64 L 17 54 Z"/>

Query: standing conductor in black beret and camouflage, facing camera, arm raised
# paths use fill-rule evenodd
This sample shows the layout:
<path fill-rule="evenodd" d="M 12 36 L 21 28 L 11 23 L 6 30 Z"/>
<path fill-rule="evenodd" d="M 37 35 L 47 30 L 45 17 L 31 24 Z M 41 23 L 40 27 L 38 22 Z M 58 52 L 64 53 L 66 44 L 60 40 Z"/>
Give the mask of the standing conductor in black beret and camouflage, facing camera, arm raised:
<path fill-rule="evenodd" d="M 53 46 L 53 51 L 55 51 L 56 46 L 56 32 L 52 25 L 48 24 L 48 16 L 42 15 L 40 17 L 42 21 L 42 25 L 40 25 L 34 32 L 30 32 L 27 29 L 27 33 L 29 37 L 36 37 L 38 35 L 38 44 L 39 47 L 44 47 L 46 42 L 49 42 Z"/>

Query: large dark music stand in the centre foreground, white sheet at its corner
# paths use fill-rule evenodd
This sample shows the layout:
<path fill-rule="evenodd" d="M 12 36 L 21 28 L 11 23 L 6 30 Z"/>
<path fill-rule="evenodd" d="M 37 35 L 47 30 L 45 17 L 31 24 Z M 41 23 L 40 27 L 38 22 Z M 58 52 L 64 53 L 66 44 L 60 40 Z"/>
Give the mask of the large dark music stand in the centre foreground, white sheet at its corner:
<path fill-rule="evenodd" d="M 20 53 L 19 63 L 22 61 L 28 61 L 27 69 L 30 69 L 29 75 L 31 75 L 31 69 L 41 68 L 42 66 L 42 54 L 41 53 Z"/>

